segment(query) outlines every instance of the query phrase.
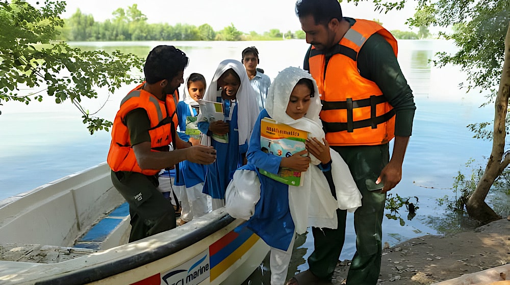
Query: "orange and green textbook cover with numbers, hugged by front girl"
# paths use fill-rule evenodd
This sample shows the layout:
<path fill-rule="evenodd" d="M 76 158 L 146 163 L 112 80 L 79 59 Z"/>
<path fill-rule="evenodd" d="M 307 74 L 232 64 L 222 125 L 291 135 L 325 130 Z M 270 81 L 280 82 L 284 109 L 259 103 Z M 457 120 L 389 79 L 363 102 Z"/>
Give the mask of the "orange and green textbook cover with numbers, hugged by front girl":
<path fill-rule="evenodd" d="M 304 141 L 308 138 L 306 131 L 295 129 L 269 118 L 261 120 L 260 128 L 260 147 L 265 153 L 289 157 L 306 149 L 304 147 Z M 271 179 L 292 186 L 300 186 L 302 182 L 301 172 L 287 167 L 280 167 L 278 174 L 269 173 L 264 169 L 259 169 L 259 172 Z"/>

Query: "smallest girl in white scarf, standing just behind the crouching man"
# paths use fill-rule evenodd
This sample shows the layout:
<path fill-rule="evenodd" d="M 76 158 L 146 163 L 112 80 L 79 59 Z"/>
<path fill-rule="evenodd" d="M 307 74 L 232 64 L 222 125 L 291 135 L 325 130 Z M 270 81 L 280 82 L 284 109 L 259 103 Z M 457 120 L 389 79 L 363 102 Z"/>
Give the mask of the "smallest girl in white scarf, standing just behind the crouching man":
<path fill-rule="evenodd" d="M 206 79 L 199 73 L 191 73 L 185 81 L 182 101 L 177 104 L 177 117 L 179 118 L 179 132 L 177 133 L 181 139 L 189 141 L 193 146 L 200 144 L 200 134 L 196 128 L 195 120 L 198 115 L 197 101 L 202 99 L 205 92 Z M 179 163 L 179 173 L 176 174 L 178 177 L 174 181 L 182 206 L 179 224 L 189 222 L 194 217 L 203 216 L 208 211 L 207 195 L 202 193 L 206 169 L 206 165 L 187 160 Z"/>

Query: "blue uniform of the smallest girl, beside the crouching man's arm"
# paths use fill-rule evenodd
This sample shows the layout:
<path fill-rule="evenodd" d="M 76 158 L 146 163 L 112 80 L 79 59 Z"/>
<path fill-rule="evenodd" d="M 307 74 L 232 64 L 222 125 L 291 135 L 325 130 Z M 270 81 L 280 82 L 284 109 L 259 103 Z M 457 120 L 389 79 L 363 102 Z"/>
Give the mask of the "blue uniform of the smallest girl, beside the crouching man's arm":
<path fill-rule="evenodd" d="M 191 108 L 184 101 L 180 101 L 177 104 L 177 118 L 179 119 L 180 129 L 180 132 L 177 132 L 177 134 L 182 140 L 189 141 L 190 138 L 190 136 L 185 133 L 187 123 L 186 118 L 188 116 L 196 117 L 197 115 L 197 110 Z M 186 188 L 190 188 L 199 183 L 204 183 L 206 178 L 206 171 L 206 165 L 183 160 L 179 162 L 179 174 L 177 174 L 178 179 L 175 179 L 174 185 L 185 185 Z"/>

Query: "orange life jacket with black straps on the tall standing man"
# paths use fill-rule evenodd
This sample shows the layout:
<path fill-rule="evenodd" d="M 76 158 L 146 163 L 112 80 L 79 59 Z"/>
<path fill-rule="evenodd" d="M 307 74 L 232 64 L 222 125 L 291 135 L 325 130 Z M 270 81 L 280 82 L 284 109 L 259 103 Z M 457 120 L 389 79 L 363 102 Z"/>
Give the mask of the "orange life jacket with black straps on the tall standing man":
<path fill-rule="evenodd" d="M 333 55 L 326 58 L 314 47 L 310 51 L 310 73 L 321 94 L 320 118 L 331 146 L 381 145 L 394 137 L 393 107 L 375 82 L 360 75 L 357 65 L 361 47 L 375 33 L 390 43 L 396 56 L 397 41 L 390 32 L 361 19 L 333 48 Z"/>

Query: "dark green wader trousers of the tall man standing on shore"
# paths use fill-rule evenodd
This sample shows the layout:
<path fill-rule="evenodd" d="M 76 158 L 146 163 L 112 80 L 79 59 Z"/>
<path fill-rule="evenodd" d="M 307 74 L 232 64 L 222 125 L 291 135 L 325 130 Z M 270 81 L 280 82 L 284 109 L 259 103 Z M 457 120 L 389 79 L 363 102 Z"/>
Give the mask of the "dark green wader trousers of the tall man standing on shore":
<path fill-rule="evenodd" d="M 380 146 L 331 147 L 349 166 L 356 185 L 363 196 L 362 206 L 354 212 L 356 253 L 347 275 L 348 285 L 376 284 L 381 265 L 382 217 L 386 193 L 377 192 L 382 184 L 375 184 L 388 164 L 388 144 Z M 327 178 L 327 173 L 324 173 Z M 329 173 L 330 175 L 330 173 Z M 330 179 L 328 179 L 330 181 Z M 372 191 L 371 191 L 372 190 Z M 375 191 L 373 191 L 375 190 Z M 345 240 L 346 211 L 337 210 L 338 229 L 313 228 L 314 252 L 308 258 L 310 270 L 322 279 L 331 279 L 340 258 Z"/>

